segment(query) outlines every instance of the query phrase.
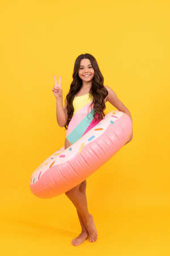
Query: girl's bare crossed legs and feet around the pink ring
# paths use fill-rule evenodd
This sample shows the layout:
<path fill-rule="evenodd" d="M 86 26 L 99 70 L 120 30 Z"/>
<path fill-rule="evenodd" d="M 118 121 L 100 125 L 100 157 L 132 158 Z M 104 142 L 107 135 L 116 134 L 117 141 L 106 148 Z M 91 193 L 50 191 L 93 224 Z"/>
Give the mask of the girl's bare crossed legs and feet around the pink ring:
<path fill-rule="evenodd" d="M 71 146 L 71 143 L 66 139 L 65 148 L 69 146 Z M 88 236 L 90 237 L 90 242 L 95 242 L 97 240 L 97 230 L 92 214 L 88 213 L 87 209 L 86 180 L 75 188 L 70 189 L 70 191 L 67 191 L 65 194 L 75 205 L 80 225 L 82 226 L 82 233 L 73 240 L 72 244 L 79 245 L 86 240 Z"/>

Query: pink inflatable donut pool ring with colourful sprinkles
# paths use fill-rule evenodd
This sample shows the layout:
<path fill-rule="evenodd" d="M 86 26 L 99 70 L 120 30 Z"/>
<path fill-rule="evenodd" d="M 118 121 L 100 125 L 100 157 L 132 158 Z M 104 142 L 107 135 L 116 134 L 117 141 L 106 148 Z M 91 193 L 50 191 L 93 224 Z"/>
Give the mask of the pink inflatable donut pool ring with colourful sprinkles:
<path fill-rule="evenodd" d="M 59 148 L 31 175 L 29 187 L 40 198 L 61 195 L 103 166 L 130 138 L 131 118 L 112 111 L 70 147 Z"/>

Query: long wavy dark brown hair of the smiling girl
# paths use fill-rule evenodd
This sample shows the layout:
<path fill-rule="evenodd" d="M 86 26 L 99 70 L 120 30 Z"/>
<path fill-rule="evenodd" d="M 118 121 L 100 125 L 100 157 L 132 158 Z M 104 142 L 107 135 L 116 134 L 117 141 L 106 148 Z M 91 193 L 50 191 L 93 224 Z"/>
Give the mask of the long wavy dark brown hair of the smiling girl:
<path fill-rule="evenodd" d="M 82 88 L 82 79 L 80 79 L 78 72 L 80 67 L 80 61 L 82 59 L 89 59 L 91 61 L 91 65 L 94 68 L 94 77 L 92 79 L 92 86 L 90 89 L 90 97 L 93 98 L 92 104 L 94 104 L 94 118 L 95 121 L 100 121 L 105 116 L 105 97 L 108 96 L 108 90 L 105 89 L 103 82 L 104 78 L 101 75 L 99 66 L 94 56 L 89 53 L 79 55 L 74 63 L 74 71 L 73 71 L 73 82 L 71 82 L 69 93 L 66 96 L 67 100 L 67 121 L 65 124 L 65 129 L 69 125 L 71 118 L 73 117 L 74 107 L 73 107 L 73 100 L 75 95 L 79 92 Z M 92 105 L 91 104 L 91 105 Z M 90 105 L 90 106 L 91 106 Z"/>

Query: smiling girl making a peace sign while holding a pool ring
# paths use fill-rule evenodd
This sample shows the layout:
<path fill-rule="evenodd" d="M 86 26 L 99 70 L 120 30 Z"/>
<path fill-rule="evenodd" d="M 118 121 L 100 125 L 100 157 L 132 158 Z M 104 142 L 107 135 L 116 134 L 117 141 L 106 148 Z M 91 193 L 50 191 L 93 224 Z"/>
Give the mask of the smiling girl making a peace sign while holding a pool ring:
<path fill-rule="evenodd" d="M 95 57 L 89 53 L 79 55 L 75 60 L 73 82 L 71 82 L 63 108 L 61 76 L 59 76 L 59 84 L 55 85 L 52 90 L 56 97 L 58 125 L 65 126 L 67 130 L 65 149 L 103 119 L 107 101 L 131 118 L 128 108 L 118 100 L 116 93 L 109 86 L 103 85 L 103 81 L 104 78 Z M 132 136 L 133 134 L 129 141 Z M 97 229 L 92 214 L 88 212 L 86 180 L 67 191 L 65 195 L 74 204 L 82 227 L 82 232 L 74 238 L 72 244 L 79 245 L 88 237 L 90 242 L 95 242 Z"/>

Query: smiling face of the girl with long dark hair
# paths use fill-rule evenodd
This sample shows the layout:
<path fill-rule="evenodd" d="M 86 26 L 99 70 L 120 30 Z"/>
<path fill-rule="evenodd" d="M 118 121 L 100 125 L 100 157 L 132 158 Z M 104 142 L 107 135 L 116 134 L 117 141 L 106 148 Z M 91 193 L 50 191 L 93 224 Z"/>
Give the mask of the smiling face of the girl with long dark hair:
<path fill-rule="evenodd" d="M 94 78 L 94 68 L 91 65 L 90 59 L 83 59 L 80 61 L 79 77 L 83 81 L 89 82 Z M 89 75 L 89 76 L 86 76 Z"/>

